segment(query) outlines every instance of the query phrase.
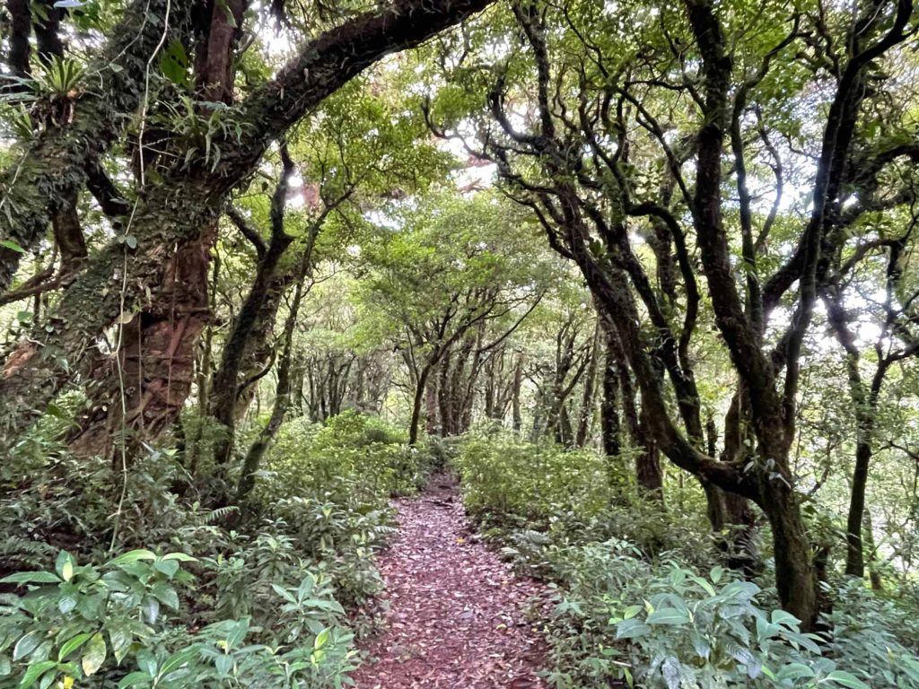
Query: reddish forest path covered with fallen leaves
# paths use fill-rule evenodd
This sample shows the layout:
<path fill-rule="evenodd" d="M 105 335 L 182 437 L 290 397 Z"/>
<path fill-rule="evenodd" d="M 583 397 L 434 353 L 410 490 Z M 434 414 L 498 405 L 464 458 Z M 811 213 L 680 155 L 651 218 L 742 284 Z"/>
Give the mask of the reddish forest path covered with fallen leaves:
<path fill-rule="evenodd" d="M 525 616 L 544 588 L 474 536 L 452 478 L 395 505 L 399 534 L 379 560 L 390 608 L 357 689 L 545 689 L 545 644 Z"/>

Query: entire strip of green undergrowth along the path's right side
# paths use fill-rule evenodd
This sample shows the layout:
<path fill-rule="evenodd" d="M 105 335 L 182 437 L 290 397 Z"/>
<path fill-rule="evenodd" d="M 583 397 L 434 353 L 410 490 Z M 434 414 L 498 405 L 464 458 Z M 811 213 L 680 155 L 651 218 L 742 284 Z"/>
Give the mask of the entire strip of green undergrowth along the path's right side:
<path fill-rule="evenodd" d="M 919 624 L 902 604 L 838 582 L 832 632 L 801 632 L 768 572 L 744 581 L 699 536 L 686 514 L 704 514 L 701 496 L 641 499 L 619 478 L 627 457 L 473 435 L 453 461 L 482 532 L 555 590 L 553 686 L 919 687 Z"/>

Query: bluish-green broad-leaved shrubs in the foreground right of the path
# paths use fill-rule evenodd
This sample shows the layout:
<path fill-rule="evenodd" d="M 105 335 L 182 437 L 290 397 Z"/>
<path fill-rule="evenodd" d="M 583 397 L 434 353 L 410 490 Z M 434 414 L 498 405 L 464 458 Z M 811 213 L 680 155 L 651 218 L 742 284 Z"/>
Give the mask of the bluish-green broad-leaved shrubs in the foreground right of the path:
<path fill-rule="evenodd" d="M 827 642 L 802 633 L 794 616 L 767 612 L 764 592 L 727 570 L 703 577 L 672 561 L 635 559 L 626 544 L 605 548 L 584 547 L 573 560 L 577 573 L 550 622 L 556 686 L 919 686 L 919 661 L 889 634 L 844 631 L 847 640 Z M 841 631 L 857 618 L 837 615 Z"/>

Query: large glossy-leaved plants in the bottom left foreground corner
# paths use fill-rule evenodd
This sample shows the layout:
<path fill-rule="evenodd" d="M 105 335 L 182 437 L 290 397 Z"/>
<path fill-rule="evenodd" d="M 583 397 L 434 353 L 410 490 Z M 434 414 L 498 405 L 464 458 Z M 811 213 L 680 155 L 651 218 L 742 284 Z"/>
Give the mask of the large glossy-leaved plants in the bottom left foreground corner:
<path fill-rule="evenodd" d="M 274 584 L 271 627 L 248 616 L 182 623 L 183 553 L 132 550 L 101 566 L 62 551 L 55 571 L 18 572 L 0 608 L 0 685 L 119 687 L 341 686 L 354 666 L 345 611 L 307 574 Z M 111 684 L 109 684 L 111 683 Z"/>

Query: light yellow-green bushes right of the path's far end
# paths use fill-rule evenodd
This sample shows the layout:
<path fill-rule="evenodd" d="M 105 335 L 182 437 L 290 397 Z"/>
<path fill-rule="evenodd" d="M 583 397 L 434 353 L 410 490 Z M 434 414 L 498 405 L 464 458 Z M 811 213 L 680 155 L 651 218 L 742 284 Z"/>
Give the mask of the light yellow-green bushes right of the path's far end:
<path fill-rule="evenodd" d="M 698 557 L 706 550 L 700 530 L 636 494 L 623 470 L 629 458 L 515 435 L 470 435 L 453 464 L 471 516 L 542 576 L 557 576 L 550 560 L 564 566 L 545 557 L 550 550 L 609 537 L 627 538 L 647 553 L 681 549 Z"/>

